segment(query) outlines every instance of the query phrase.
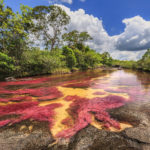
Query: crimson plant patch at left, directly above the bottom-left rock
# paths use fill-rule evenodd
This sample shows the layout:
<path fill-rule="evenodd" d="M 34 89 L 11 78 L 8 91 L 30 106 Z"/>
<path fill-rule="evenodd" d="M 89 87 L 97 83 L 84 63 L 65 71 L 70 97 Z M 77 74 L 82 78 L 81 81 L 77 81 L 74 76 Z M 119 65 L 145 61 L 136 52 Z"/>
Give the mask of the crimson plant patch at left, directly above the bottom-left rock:
<path fill-rule="evenodd" d="M 10 119 L 0 121 L 0 126 L 5 126 L 8 123 L 19 123 L 23 120 L 47 121 L 51 127 L 54 123 L 53 117 L 55 115 L 54 109 L 61 107 L 61 104 L 50 104 L 39 107 L 38 102 L 24 102 L 18 104 L 10 104 L 7 106 L 0 106 L 0 116 L 15 114 L 20 115 L 18 119 Z"/>

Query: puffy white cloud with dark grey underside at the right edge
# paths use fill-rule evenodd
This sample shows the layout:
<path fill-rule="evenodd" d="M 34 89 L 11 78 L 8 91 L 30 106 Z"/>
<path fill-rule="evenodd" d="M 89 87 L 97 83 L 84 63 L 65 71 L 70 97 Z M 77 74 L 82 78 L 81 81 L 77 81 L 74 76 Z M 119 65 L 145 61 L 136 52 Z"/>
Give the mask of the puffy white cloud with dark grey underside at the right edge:
<path fill-rule="evenodd" d="M 150 48 L 150 21 L 140 16 L 124 19 L 124 32 L 118 35 L 116 47 L 119 50 L 137 51 Z"/>

